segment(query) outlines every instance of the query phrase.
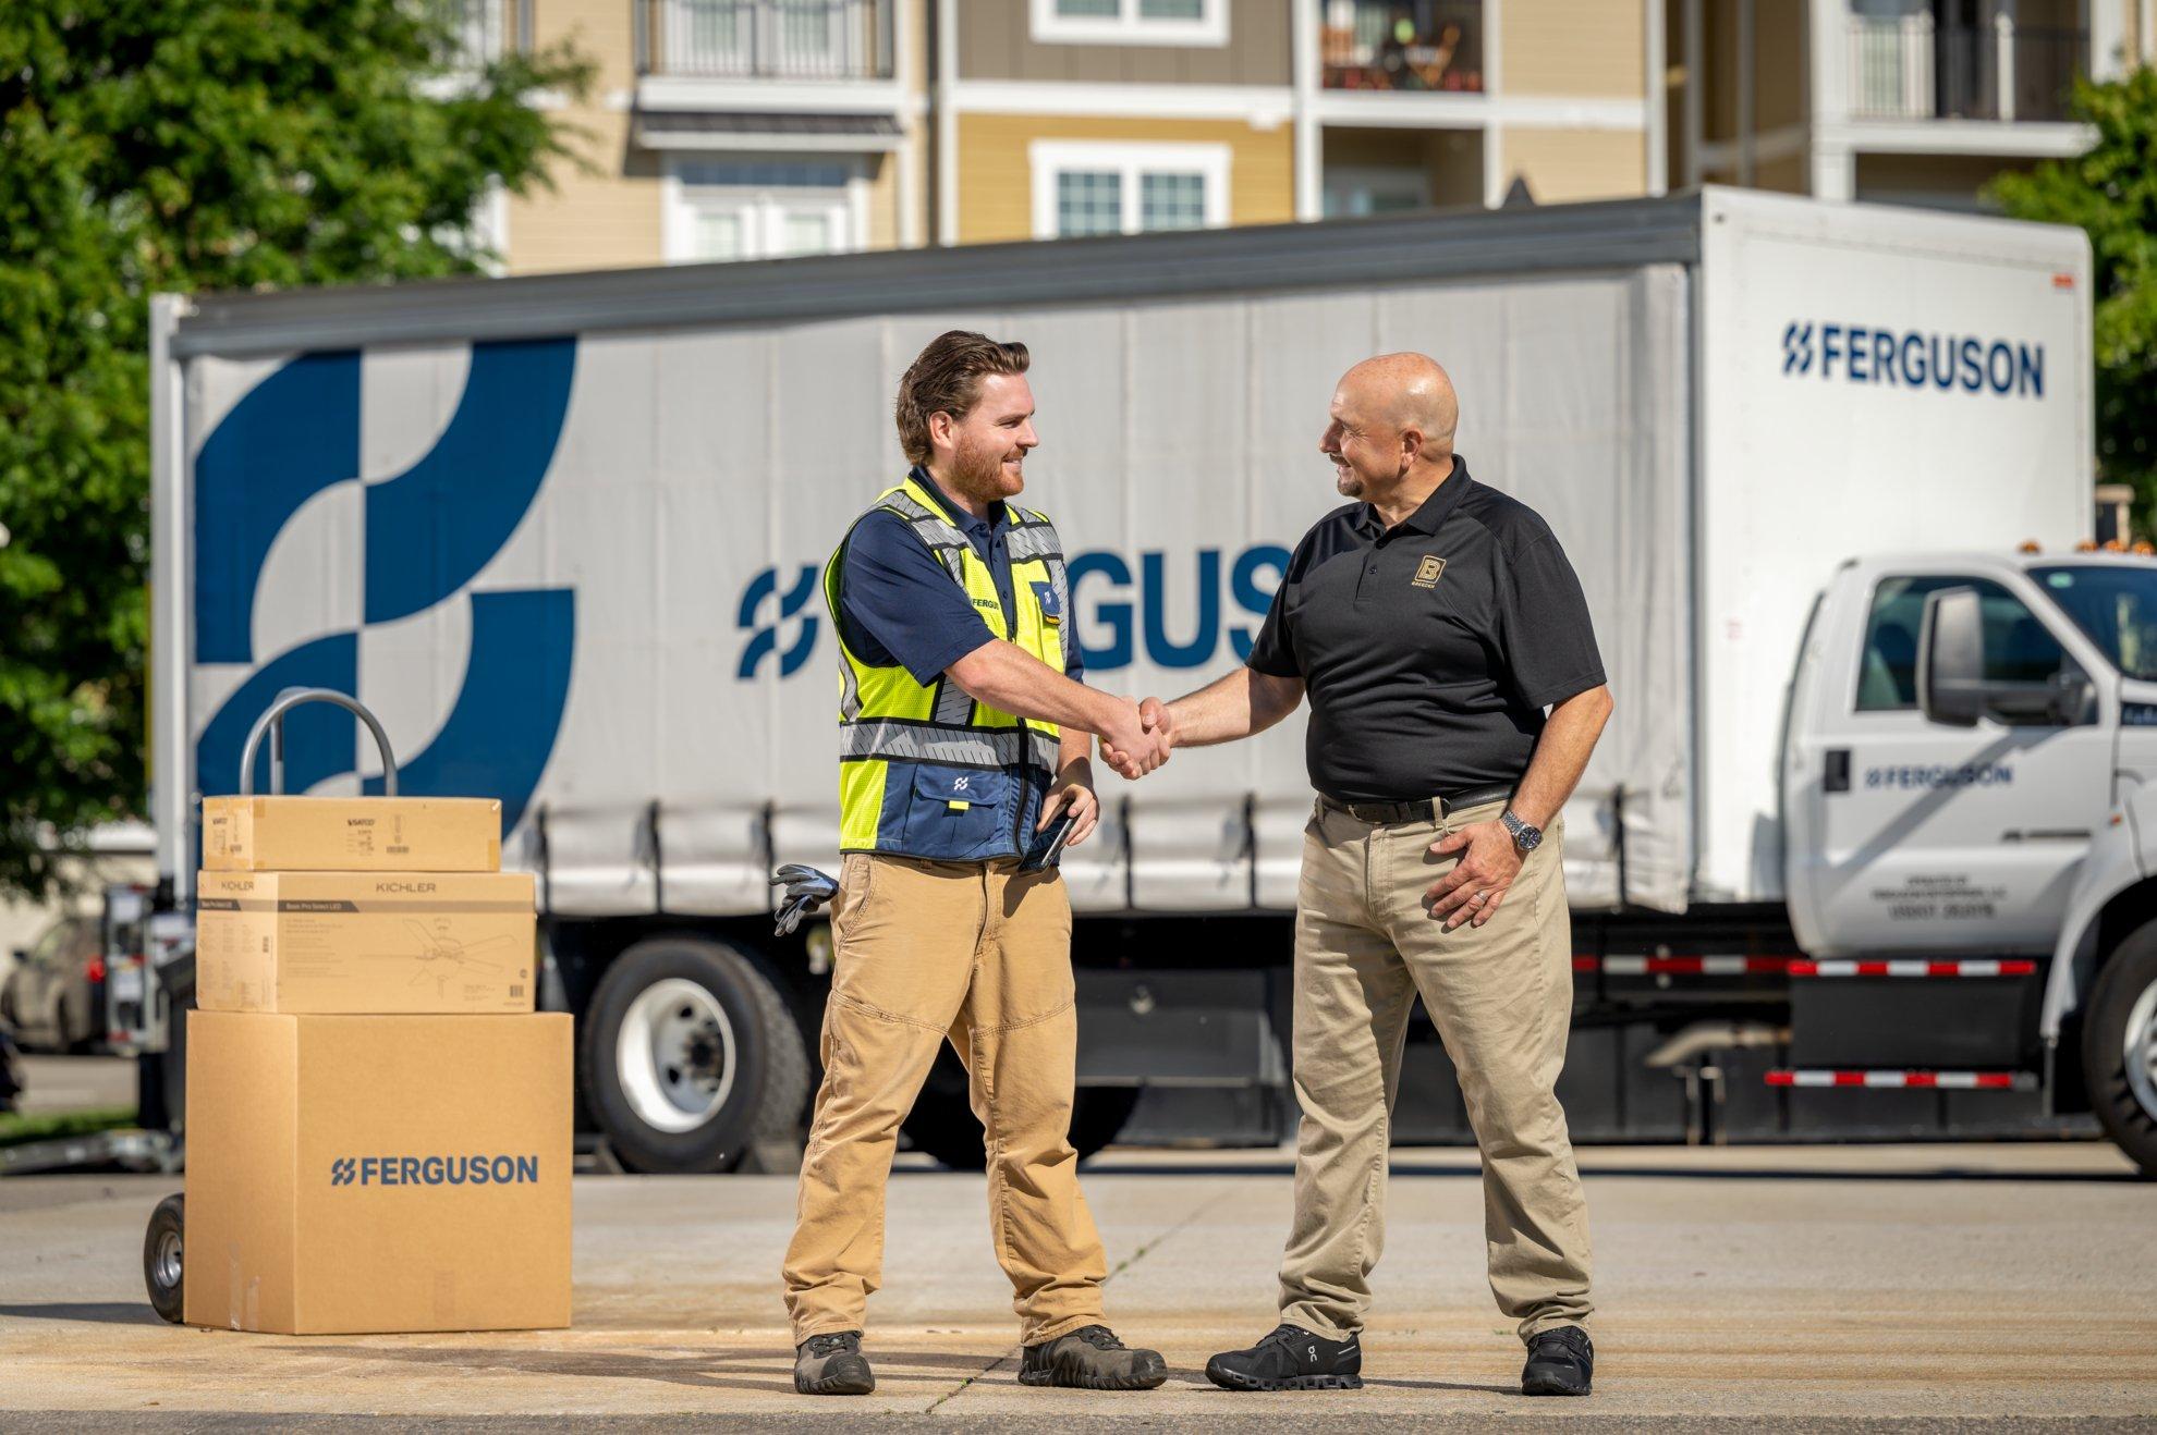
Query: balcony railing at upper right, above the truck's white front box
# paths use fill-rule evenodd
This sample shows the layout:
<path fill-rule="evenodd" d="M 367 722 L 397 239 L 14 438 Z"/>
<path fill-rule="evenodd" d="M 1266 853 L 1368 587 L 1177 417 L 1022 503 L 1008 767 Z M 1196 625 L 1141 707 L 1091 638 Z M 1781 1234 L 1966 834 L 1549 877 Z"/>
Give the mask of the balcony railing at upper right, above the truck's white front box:
<path fill-rule="evenodd" d="M 1935 26 L 1933 17 L 1851 19 L 1855 119 L 2064 121 L 2090 54 L 2086 30 Z"/>

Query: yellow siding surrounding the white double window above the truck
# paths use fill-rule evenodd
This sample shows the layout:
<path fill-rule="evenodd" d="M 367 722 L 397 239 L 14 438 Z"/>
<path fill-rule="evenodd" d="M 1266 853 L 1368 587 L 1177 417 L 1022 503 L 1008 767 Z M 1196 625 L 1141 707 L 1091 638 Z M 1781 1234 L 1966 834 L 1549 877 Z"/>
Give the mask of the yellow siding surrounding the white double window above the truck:
<path fill-rule="evenodd" d="M 1033 237 L 1033 170 L 1027 157 L 1033 140 L 1227 144 L 1229 222 L 1279 224 L 1296 218 L 1294 138 L 1288 125 L 1253 129 L 1234 121 L 962 114 L 958 121 L 962 243 Z"/>

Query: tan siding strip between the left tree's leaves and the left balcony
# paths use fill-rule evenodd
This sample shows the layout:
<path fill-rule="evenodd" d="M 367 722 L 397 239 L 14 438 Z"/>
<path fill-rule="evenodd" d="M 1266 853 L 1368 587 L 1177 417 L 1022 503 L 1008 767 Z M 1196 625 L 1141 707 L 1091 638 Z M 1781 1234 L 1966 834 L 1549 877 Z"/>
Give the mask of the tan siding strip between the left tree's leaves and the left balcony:
<path fill-rule="evenodd" d="M 613 269 L 660 263 L 660 168 L 630 147 L 628 110 L 608 106 L 636 84 L 634 32 L 623 0 L 539 0 L 537 43 L 576 43 L 597 62 L 585 103 L 554 110 L 585 131 L 587 166 L 557 162 L 554 190 L 509 200 L 509 271 Z"/>

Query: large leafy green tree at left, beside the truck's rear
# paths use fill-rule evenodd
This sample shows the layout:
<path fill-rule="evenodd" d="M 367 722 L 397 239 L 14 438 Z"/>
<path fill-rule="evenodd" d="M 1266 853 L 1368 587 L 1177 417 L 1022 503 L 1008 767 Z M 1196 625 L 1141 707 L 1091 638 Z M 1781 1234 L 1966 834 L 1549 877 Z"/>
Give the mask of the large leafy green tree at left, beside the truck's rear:
<path fill-rule="evenodd" d="M 151 293 L 472 274 L 470 215 L 574 134 L 500 0 L 0 4 L 0 892 L 145 806 Z"/>

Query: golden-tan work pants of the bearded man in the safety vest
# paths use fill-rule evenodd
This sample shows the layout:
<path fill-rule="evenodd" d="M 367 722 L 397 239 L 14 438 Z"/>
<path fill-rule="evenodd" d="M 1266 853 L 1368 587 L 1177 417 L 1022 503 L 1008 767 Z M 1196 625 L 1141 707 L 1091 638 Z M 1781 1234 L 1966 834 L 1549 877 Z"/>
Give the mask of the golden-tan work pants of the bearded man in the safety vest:
<path fill-rule="evenodd" d="M 1102 1321 L 1107 1263 L 1070 1146 L 1078 1013 L 1057 873 L 854 853 L 839 868 L 824 1086 L 787 1245 L 796 1345 L 863 1329 L 899 1123 L 951 1041 L 988 1140 L 988 1228 L 1020 1340 Z"/>

